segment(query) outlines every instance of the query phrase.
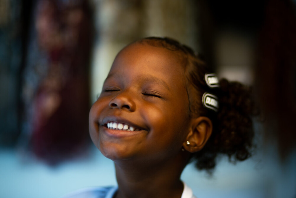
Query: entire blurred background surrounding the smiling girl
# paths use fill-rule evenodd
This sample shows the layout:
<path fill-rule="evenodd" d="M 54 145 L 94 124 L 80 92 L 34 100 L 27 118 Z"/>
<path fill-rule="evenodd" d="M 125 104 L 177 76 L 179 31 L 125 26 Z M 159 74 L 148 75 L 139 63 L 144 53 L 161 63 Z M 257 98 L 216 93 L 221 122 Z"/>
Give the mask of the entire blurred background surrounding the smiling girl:
<path fill-rule="evenodd" d="M 62 197 L 116 185 L 92 145 L 88 112 L 115 55 L 147 36 L 204 55 L 253 85 L 256 151 L 212 177 L 188 165 L 199 198 L 296 197 L 296 1 L 0 0 L 0 197 Z M 263 122 L 262 122 L 263 121 Z"/>

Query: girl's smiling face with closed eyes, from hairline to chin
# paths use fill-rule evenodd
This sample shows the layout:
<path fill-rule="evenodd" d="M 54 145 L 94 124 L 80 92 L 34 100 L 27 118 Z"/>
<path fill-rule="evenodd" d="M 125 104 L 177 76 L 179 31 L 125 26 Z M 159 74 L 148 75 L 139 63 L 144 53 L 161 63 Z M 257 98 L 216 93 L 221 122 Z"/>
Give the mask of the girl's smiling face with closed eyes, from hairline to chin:
<path fill-rule="evenodd" d="M 89 113 L 91 139 L 104 156 L 162 161 L 181 152 L 190 127 L 183 73 L 176 53 L 162 47 L 133 43 L 117 55 Z"/>

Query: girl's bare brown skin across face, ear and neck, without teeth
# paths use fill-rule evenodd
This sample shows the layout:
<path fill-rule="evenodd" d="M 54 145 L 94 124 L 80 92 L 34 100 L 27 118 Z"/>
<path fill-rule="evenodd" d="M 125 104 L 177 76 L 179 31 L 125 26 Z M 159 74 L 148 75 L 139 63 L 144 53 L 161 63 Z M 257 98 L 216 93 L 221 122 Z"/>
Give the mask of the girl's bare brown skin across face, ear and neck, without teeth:
<path fill-rule="evenodd" d="M 139 131 L 108 129 L 108 121 Z M 205 144 L 211 124 L 207 118 L 189 118 L 179 56 L 133 43 L 115 58 L 102 94 L 91 107 L 89 129 L 96 147 L 115 162 L 116 197 L 157 198 L 181 197 L 181 172 L 191 153 Z M 186 145 L 187 140 L 192 144 Z"/>

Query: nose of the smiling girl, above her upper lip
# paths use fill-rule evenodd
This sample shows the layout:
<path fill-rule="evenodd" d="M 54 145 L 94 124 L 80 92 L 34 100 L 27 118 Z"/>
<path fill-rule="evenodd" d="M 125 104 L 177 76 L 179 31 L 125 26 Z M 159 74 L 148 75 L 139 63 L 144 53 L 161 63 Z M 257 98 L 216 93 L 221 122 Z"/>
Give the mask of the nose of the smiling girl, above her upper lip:
<path fill-rule="evenodd" d="M 127 94 L 119 94 L 115 96 L 112 100 L 110 100 L 109 106 L 112 109 L 118 108 L 118 109 L 126 109 L 128 111 L 136 110 L 135 102 L 133 102 L 131 97 L 128 96 Z"/>

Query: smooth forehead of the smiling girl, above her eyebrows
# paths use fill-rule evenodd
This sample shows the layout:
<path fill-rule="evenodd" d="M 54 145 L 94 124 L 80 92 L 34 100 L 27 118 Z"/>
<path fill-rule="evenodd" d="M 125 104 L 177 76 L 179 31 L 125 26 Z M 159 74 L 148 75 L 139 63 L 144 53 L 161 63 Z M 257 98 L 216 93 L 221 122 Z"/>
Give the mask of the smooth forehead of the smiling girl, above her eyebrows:
<path fill-rule="evenodd" d="M 184 76 L 181 58 L 177 53 L 163 47 L 141 43 L 128 45 L 118 53 L 110 74 L 118 71 L 138 75 L 149 74 L 167 80 L 181 80 Z"/>

